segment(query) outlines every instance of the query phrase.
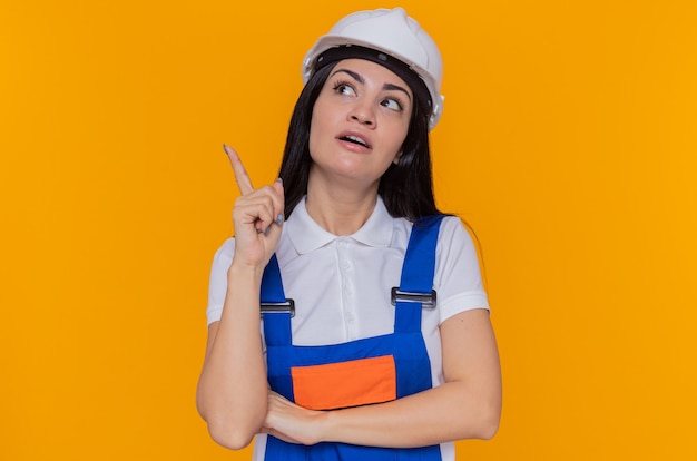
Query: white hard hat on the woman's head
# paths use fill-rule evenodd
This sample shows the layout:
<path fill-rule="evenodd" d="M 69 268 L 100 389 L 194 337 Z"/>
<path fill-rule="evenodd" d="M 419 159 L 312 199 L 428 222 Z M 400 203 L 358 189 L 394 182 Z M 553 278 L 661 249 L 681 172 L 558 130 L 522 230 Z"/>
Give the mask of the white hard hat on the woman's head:
<path fill-rule="evenodd" d="M 413 85 L 414 80 L 419 80 L 419 78 L 411 79 L 409 76 L 404 78 L 404 73 L 412 72 L 395 72 L 410 84 L 418 98 L 419 89 L 415 87 L 420 87 L 421 82 L 425 85 L 428 95 L 424 95 L 422 99 L 428 98 L 429 129 L 438 124 L 443 112 L 444 97 L 440 94 L 443 80 L 443 60 L 433 39 L 414 19 L 406 16 L 404 9 L 397 7 L 392 10 L 381 8 L 372 11 L 359 11 L 341 19 L 327 35 L 320 37 L 305 55 L 303 60 L 304 84 L 318 67 L 324 66 L 321 62 L 324 59 L 323 53 L 327 51 L 331 53 L 333 49 L 338 47 L 346 50 L 375 50 L 377 53 L 374 57 L 359 57 L 382 63 L 393 71 L 395 71 L 394 59 L 401 61 L 401 66 L 405 65 L 420 78 L 420 82 Z M 383 52 L 394 59 L 390 60 Z M 348 56 L 335 55 L 338 56 L 336 59 L 352 57 L 351 53 Z M 390 63 L 387 61 L 392 62 L 392 66 L 387 66 L 386 63 Z"/>

